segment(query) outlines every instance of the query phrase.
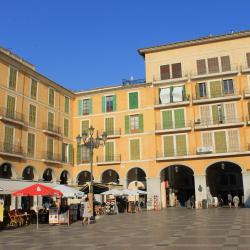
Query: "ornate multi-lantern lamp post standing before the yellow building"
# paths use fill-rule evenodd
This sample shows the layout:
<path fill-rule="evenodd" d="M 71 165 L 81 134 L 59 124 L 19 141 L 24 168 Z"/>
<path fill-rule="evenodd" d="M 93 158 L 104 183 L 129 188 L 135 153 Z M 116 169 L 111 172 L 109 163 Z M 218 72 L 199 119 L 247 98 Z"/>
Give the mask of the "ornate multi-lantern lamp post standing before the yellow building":
<path fill-rule="evenodd" d="M 94 127 L 90 126 L 88 131 L 83 131 L 82 136 L 78 135 L 76 137 L 77 144 L 80 145 L 81 142 L 83 142 L 83 145 L 89 149 L 89 160 L 90 160 L 90 185 L 89 185 L 89 200 L 91 207 L 93 208 L 93 197 L 94 197 L 94 190 L 93 190 L 93 154 L 94 149 L 99 148 L 100 145 L 105 145 L 107 141 L 107 132 L 103 132 L 101 137 L 97 135 L 96 138 L 94 138 Z M 92 209 L 92 216 L 93 216 L 93 209 Z"/>

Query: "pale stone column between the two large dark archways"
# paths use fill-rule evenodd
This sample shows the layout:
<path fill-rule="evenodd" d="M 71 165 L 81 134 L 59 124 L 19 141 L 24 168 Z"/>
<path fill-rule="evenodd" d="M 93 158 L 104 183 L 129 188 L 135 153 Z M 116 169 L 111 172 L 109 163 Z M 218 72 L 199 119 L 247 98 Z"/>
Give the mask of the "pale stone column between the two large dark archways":
<path fill-rule="evenodd" d="M 195 207 L 200 208 L 203 199 L 207 199 L 206 175 L 195 175 Z"/>

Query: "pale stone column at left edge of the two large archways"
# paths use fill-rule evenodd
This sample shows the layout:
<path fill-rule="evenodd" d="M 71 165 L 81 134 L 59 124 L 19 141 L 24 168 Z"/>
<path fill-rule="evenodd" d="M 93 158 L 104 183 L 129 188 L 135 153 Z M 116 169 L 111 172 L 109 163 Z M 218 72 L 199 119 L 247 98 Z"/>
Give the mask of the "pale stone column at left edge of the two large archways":
<path fill-rule="evenodd" d="M 147 178 L 147 209 L 154 209 L 154 196 L 158 197 L 158 208 L 161 208 L 161 179 L 160 177 Z"/>

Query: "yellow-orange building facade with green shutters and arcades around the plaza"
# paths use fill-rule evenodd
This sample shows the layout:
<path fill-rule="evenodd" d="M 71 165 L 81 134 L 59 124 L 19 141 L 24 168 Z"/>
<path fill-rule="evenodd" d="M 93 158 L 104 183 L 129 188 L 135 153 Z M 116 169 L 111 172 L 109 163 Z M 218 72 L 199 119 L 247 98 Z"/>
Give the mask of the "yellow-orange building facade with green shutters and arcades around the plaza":
<path fill-rule="evenodd" d="M 92 125 L 108 133 L 95 181 L 147 190 L 162 207 L 229 192 L 249 205 L 249 44 L 247 31 L 139 49 L 145 82 L 74 93 L 0 51 L 0 176 L 84 184 L 89 152 L 75 138 Z"/>

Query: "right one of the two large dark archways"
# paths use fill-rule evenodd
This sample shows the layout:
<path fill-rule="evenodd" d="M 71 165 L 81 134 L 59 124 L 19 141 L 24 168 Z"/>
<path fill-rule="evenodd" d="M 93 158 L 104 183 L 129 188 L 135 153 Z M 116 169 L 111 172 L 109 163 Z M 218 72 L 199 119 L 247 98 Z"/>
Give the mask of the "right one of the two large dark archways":
<path fill-rule="evenodd" d="M 232 162 L 217 162 L 206 170 L 208 198 L 221 197 L 226 205 L 227 195 L 238 195 L 240 200 L 244 195 L 241 168 Z"/>

